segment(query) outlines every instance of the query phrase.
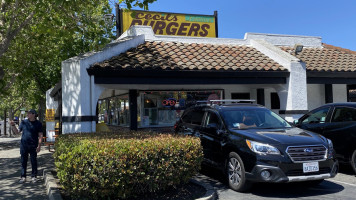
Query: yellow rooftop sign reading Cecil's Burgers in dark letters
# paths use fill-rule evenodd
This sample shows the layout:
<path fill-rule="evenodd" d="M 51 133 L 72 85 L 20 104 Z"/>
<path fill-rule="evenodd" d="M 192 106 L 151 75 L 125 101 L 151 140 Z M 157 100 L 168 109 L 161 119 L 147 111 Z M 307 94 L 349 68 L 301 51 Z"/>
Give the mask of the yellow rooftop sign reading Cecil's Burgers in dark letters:
<path fill-rule="evenodd" d="M 214 15 L 190 15 L 121 10 L 121 30 L 132 25 L 151 26 L 156 35 L 217 37 Z M 133 14 L 131 14 L 133 13 Z"/>

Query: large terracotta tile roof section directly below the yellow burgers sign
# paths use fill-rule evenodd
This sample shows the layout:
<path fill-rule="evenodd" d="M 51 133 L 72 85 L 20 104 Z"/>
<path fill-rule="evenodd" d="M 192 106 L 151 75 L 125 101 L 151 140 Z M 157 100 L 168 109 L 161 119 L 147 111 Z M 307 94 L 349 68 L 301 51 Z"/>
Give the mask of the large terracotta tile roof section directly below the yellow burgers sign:
<path fill-rule="evenodd" d="M 287 71 L 248 46 L 145 42 L 91 69 Z"/>

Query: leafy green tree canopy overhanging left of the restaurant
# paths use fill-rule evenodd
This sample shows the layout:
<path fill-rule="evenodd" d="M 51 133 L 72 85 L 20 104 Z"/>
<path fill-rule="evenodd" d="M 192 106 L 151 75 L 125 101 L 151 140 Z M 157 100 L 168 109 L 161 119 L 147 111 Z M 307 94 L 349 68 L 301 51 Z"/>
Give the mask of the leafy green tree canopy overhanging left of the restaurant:
<path fill-rule="evenodd" d="M 119 3 L 147 9 L 153 1 Z M 111 12 L 103 0 L 0 0 L 0 109 L 13 115 L 19 105 L 43 105 L 63 60 L 114 39 L 113 25 L 102 18 Z"/>

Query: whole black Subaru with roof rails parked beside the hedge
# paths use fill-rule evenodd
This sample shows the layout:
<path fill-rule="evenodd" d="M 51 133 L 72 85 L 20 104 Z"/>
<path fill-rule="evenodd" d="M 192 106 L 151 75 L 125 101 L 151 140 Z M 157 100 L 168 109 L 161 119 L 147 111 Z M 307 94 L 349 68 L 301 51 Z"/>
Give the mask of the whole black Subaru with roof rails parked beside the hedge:
<path fill-rule="evenodd" d="M 200 137 L 204 163 L 223 170 L 233 190 L 245 191 L 252 182 L 319 184 L 337 174 L 325 137 L 292 127 L 260 105 L 215 103 L 186 109 L 175 131 Z"/>

